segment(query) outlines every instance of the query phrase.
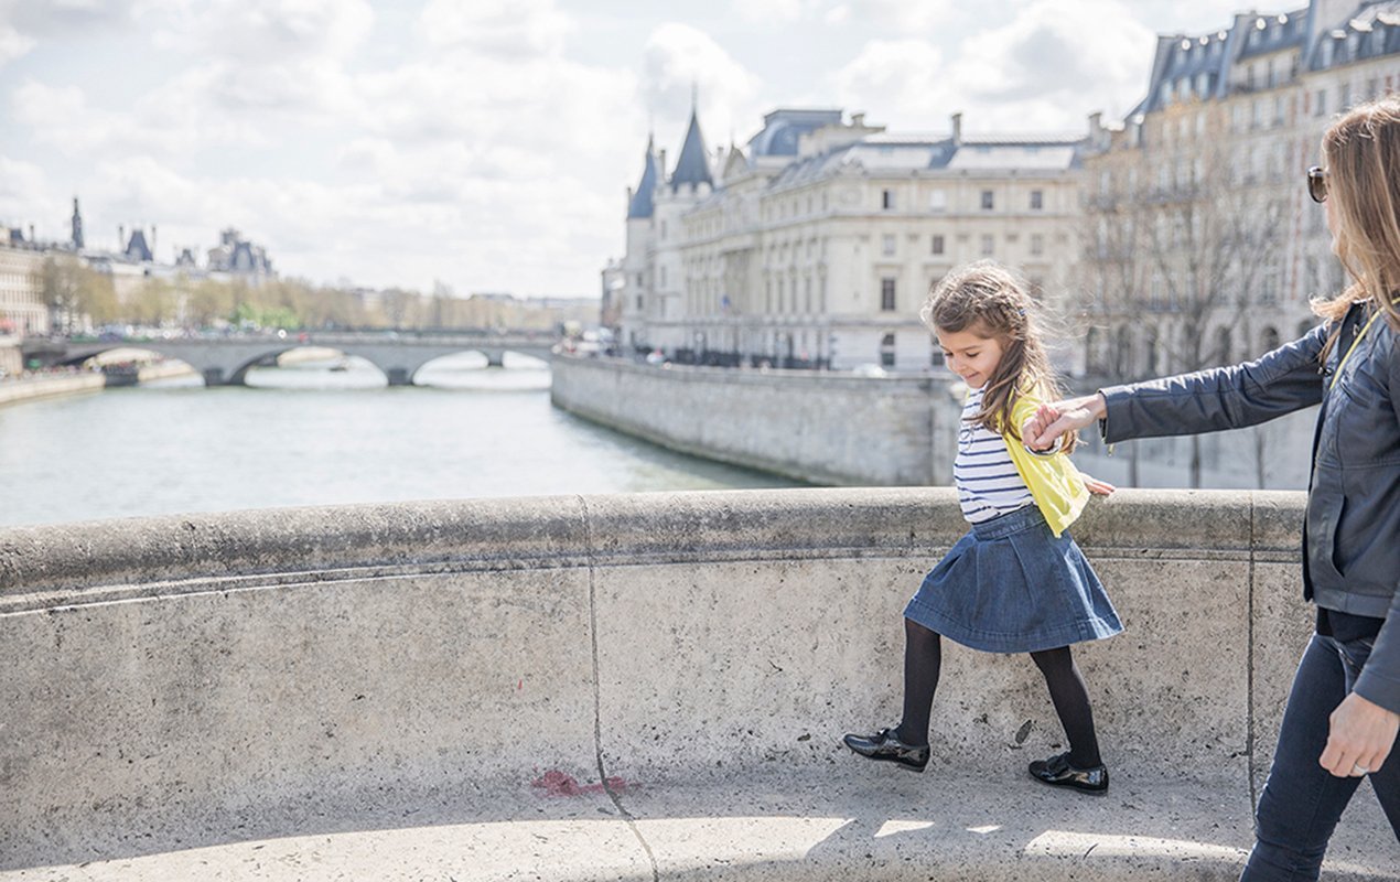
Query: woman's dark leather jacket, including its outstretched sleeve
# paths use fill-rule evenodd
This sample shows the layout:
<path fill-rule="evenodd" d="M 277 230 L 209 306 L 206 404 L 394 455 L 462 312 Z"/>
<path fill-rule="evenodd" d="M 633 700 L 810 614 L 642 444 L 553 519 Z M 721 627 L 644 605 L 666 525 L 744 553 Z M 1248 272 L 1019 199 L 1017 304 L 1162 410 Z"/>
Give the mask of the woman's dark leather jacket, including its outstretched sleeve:
<path fill-rule="evenodd" d="M 1365 308 L 1344 319 L 1345 343 Z M 1326 399 L 1313 435 L 1303 592 L 1319 606 L 1385 619 L 1355 690 L 1400 713 L 1400 344 L 1379 316 L 1341 365 L 1320 325 L 1257 361 L 1102 389 L 1107 442 L 1254 426 Z M 1333 379 L 1336 378 L 1336 382 Z"/>

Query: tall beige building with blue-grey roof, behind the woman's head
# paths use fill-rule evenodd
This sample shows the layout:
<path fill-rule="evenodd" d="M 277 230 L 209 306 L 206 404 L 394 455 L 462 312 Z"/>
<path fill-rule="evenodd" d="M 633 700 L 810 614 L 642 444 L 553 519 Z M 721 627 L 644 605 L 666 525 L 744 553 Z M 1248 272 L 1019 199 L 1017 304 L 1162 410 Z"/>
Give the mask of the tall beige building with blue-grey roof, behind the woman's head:
<path fill-rule="evenodd" d="M 1163 35 L 1142 102 L 1091 119 L 1082 287 L 1091 372 L 1238 361 L 1344 287 L 1303 186 L 1336 113 L 1400 87 L 1400 1 L 1315 0 Z"/>

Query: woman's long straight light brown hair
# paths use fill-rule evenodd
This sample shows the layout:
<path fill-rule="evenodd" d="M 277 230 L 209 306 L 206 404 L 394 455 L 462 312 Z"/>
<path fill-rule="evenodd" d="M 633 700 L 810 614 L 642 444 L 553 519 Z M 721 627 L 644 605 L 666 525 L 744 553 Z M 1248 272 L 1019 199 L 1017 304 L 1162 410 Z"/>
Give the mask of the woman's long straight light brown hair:
<path fill-rule="evenodd" d="M 1351 277 L 1343 291 L 1313 300 L 1317 315 L 1340 322 L 1354 302 L 1373 301 L 1400 332 L 1400 95 L 1359 104 L 1322 137 L 1327 200 L 1337 225 L 1337 258 Z M 1337 340 L 1333 332 L 1323 358 Z"/>

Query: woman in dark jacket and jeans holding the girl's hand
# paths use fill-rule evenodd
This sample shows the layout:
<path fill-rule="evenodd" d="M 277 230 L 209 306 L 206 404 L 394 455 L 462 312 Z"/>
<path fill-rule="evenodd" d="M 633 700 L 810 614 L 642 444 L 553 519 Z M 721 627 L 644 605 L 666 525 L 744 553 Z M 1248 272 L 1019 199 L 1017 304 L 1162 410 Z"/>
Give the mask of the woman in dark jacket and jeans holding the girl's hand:
<path fill-rule="evenodd" d="M 1317 630 L 1284 710 L 1242 879 L 1316 879 L 1361 778 L 1400 840 L 1400 97 L 1323 136 L 1308 171 L 1351 284 L 1327 319 L 1257 361 L 1056 402 L 1032 447 L 1099 421 L 1105 441 L 1253 426 L 1322 403 L 1303 525 L 1303 594 Z"/>

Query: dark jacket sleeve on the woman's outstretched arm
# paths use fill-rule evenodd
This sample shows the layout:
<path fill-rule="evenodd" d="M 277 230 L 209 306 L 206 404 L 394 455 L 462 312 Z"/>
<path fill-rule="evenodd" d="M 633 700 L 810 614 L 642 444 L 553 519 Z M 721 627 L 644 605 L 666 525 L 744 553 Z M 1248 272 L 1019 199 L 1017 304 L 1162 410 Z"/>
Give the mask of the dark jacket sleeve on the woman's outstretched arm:
<path fill-rule="evenodd" d="M 1099 389 L 1107 403 L 1103 440 L 1242 428 L 1316 405 L 1323 396 L 1319 356 L 1327 333 L 1329 326 L 1319 325 L 1246 364 Z"/>

